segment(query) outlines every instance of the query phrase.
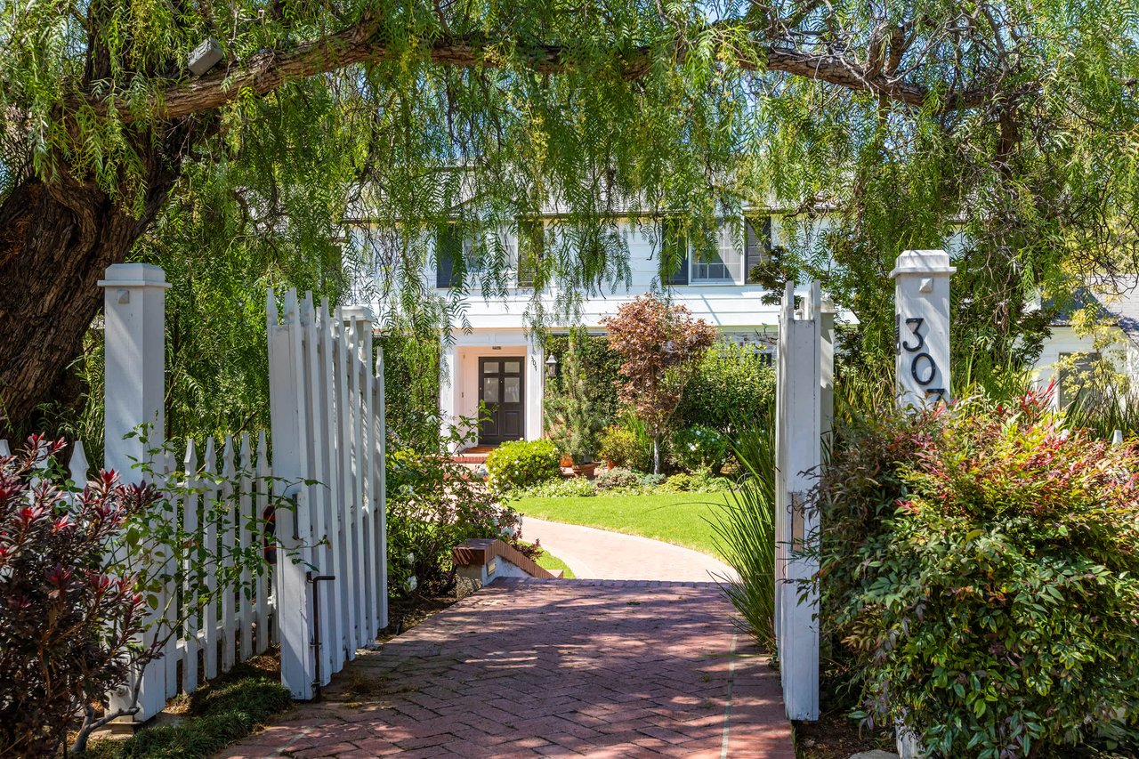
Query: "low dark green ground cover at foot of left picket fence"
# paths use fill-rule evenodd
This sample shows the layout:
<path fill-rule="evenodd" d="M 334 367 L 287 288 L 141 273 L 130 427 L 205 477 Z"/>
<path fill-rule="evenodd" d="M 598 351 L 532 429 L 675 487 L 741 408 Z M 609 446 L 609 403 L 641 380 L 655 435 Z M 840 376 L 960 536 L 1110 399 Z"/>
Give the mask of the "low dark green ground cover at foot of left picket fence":
<path fill-rule="evenodd" d="M 205 759 L 292 703 L 280 678 L 238 664 L 223 680 L 195 693 L 181 721 L 142 729 L 122 742 L 103 741 L 89 753 L 99 759 Z"/>

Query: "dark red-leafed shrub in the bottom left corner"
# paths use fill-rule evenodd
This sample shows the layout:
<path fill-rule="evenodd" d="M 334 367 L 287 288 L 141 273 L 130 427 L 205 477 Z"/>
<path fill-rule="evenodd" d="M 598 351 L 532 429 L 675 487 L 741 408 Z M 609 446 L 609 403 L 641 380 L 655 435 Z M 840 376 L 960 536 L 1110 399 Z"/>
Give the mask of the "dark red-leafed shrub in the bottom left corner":
<path fill-rule="evenodd" d="M 0 757 L 54 756 L 68 725 L 126 683 L 142 630 L 134 579 L 108 572 L 115 536 L 155 499 L 103 473 L 82 493 L 34 467 L 63 442 L 0 458 Z M 42 480 L 38 480 L 42 478 Z"/>

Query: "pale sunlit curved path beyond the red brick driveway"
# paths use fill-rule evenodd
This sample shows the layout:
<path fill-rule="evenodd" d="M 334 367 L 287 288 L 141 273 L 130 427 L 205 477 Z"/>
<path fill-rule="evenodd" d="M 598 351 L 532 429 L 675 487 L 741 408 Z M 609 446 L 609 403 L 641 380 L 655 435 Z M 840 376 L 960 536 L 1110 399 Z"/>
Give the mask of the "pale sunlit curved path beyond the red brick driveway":
<path fill-rule="evenodd" d="M 524 516 L 522 534 L 564 561 L 579 578 L 714 582 L 735 571 L 707 554 L 634 534 Z"/>

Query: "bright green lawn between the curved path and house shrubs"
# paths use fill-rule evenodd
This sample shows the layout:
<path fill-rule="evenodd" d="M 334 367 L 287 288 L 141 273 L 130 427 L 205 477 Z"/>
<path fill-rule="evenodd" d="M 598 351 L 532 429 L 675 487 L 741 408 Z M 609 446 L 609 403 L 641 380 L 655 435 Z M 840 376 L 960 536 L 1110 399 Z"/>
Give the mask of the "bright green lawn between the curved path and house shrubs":
<path fill-rule="evenodd" d="M 510 506 L 540 520 L 639 534 L 723 558 L 715 549 L 712 525 L 706 520 L 713 515 L 715 504 L 724 503 L 724 497 L 719 492 L 693 492 L 522 498 Z"/>

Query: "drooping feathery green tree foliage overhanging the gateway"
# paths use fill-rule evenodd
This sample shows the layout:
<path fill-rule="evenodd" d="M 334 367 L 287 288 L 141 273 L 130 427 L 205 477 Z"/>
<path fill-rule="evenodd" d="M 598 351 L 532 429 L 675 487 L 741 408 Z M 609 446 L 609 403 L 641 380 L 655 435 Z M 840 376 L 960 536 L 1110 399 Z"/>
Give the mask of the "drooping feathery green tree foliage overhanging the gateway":
<path fill-rule="evenodd" d="M 626 280 L 621 220 L 703 238 L 746 204 L 792 231 L 767 277 L 823 278 L 868 366 L 894 256 L 941 246 L 954 346 L 1015 360 L 1038 288 L 1139 258 L 1137 32 L 1126 0 L 5 2 L 0 277 L 30 183 L 77 182 L 96 227 L 140 219 L 112 258 L 175 284 L 187 429 L 263 421 L 268 284 L 461 326 L 462 293 L 509 284 L 501 232 L 550 210 L 535 293 L 566 312 Z M 192 76 L 207 38 L 224 59 Z M 155 165 L 177 179 L 149 214 Z M 450 221 L 473 250 L 441 302 L 418 275 Z"/>

